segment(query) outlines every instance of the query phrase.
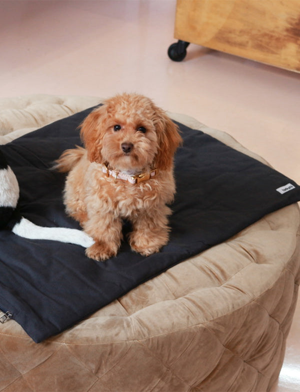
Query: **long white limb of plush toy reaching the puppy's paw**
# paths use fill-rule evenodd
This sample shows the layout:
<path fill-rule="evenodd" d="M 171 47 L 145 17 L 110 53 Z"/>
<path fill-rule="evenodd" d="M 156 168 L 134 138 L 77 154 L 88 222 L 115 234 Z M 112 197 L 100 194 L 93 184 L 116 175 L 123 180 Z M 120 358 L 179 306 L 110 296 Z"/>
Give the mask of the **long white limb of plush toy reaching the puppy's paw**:
<path fill-rule="evenodd" d="M 83 248 L 88 248 L 94 243 L 94 240 L 83 231 L 64 227 L 36 226 L 25 218 L 21 218 L 20 222 L 14 225 L 12 232 L 31 240 L 60 241 L 80 245 Z"/>

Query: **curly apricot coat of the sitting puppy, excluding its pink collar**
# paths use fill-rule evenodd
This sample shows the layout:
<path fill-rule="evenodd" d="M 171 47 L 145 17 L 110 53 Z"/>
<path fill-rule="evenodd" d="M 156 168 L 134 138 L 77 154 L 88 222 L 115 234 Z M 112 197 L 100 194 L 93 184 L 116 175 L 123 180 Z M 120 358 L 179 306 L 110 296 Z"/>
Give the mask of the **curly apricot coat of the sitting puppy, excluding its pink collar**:
<path fill-rule="evenodd" d="M 95 243 L 86 256 L 115 256 L 122 240 L 122 219 L 132 224 L 132 250 L 148 256 L 168 242 L 173 200 L 173 156 L 181 143 L 178 127 L 165 112 L 142 95 L 121 94 L 107 99 L 82 122 L 84 148 L 66 150 L 56 168 L 69 172 L 65 182 L 66 212 Z M 139 174 L 157 169 L 151 179 L 131 184 L 107 177 L 108 168 Z"/>

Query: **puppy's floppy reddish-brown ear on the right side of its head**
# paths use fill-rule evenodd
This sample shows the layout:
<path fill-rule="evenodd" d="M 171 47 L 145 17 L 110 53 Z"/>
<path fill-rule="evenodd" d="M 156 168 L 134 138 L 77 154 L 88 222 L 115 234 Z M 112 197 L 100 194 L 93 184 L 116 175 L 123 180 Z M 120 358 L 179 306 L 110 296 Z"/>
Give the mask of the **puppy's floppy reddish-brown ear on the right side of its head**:
<path fill-rule="evenodd" d="M 182 143 L 179 127 L 164 113 L 156 108 L 153 120 L 158 139 L 158 152 L 154 166 L 158 170 L 169 170 L 173 164 L 174 153 Z"/>

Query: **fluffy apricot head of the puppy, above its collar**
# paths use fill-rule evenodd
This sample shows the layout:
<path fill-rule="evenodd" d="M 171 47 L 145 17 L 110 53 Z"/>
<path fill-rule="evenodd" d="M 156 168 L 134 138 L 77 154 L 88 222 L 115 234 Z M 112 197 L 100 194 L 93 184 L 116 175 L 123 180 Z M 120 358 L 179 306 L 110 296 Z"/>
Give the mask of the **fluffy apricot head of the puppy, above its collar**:
<path fill-rule="evenodd" d="M 80 134 L 91 162 L 131 172 L 170 169 L 182 141 L 164 111 L 138 94 L 106 100 L 85 118 Z"/>

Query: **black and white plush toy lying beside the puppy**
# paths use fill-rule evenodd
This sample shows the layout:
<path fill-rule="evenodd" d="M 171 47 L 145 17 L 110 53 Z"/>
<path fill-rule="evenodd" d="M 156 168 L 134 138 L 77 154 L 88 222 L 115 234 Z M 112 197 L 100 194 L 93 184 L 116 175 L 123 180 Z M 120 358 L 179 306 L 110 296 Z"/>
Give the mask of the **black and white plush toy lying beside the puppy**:
<path fill-rule="evenodd" d="M 15 210 L 18 199 L 17 179 L 0 151 L 0 229 L 9 227 L 14 234 L 28 239 L 54 240 L 81 245 L 84 248 L 93 244 L 93 239 L 83 231 L 63 227 L 41 227 L 28 221 Z"/>

